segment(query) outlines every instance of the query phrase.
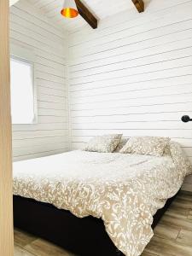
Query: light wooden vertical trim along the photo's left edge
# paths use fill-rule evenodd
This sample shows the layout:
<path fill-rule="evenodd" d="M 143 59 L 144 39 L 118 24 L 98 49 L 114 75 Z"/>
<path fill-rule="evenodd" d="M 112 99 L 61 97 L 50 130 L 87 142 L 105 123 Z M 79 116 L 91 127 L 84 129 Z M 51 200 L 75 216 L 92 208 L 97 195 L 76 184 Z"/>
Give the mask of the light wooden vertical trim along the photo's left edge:
<path fill-rule="evenodd" d="M 0 1 L 0 255 L 13 256 L 9 1 Z"/>

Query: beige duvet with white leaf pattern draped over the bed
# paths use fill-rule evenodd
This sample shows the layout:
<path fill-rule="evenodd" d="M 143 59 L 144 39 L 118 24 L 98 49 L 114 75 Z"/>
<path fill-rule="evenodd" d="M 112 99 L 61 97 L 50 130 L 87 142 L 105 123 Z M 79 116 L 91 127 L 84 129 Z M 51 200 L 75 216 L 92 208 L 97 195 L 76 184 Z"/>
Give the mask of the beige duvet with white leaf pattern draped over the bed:
<path fill-rule="evenodd" d="M 155 212 L 189 174 L 177 143 L 162 157 L 72 151 L 14 163 L 14 195 L 102 218 L 126 256 L 139 256 L 153 236 Z"/>

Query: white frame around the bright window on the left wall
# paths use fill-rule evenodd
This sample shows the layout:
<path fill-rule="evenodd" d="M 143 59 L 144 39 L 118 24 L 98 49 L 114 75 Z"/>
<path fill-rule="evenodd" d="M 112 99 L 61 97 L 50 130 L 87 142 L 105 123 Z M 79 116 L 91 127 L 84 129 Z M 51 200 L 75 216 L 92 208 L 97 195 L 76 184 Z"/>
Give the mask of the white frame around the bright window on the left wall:
<path fill-rule="evenodd" d="M 35 68 L 34 68 L 34 62 L 30 61 L 26 58 L 20 57 L 18 55 L 11 54 L 10 60 L 13 59 L 18 62 L 26 63 L 30 67 L 32 67 L 32 73 L 31 73 L 31 79 L 32 79 L 32 98 L 33 98 L 33 113 L 34 118 L 32 119 L 31 123 L 12 123 L 12 125 L 36 125 L 38 124 L 38 98 L 37 98 L 37 86 L 35 85 Z"/>

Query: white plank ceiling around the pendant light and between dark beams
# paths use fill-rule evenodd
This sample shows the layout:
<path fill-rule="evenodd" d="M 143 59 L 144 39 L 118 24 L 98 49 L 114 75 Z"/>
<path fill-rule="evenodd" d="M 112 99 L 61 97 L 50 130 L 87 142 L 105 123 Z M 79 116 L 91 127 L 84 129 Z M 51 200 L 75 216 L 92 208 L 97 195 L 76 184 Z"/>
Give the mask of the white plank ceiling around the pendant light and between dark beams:
<path fill-rule="evenodd" d="M 79 15 L 75 19 L 63 18 L 60 14 L 63 0 L 27 0 L 35 7 L 44 12 L 49 19 L 64 26 L 67 30 L 74 30 L 84 26 L 86 22 Z M 110 15 L 117 14 L 123 10 L 135 8 L 131 0 L 82 0 L 82 2 L 91 10 L 99 20 L 107 18 Z"/>

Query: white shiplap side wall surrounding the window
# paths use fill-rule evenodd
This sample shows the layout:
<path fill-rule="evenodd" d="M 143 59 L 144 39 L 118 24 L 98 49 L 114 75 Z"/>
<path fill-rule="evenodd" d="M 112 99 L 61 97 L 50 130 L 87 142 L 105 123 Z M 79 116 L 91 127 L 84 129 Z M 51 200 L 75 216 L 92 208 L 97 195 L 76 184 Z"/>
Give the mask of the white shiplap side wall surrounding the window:
<path fill-rule="evenodd" d="M 56 154 L 68 149 L 67 33 L 31 4 L 10 9 L 10 41 L 35 55 L 38 122 L 13 125 L 14 160 Z"/>

